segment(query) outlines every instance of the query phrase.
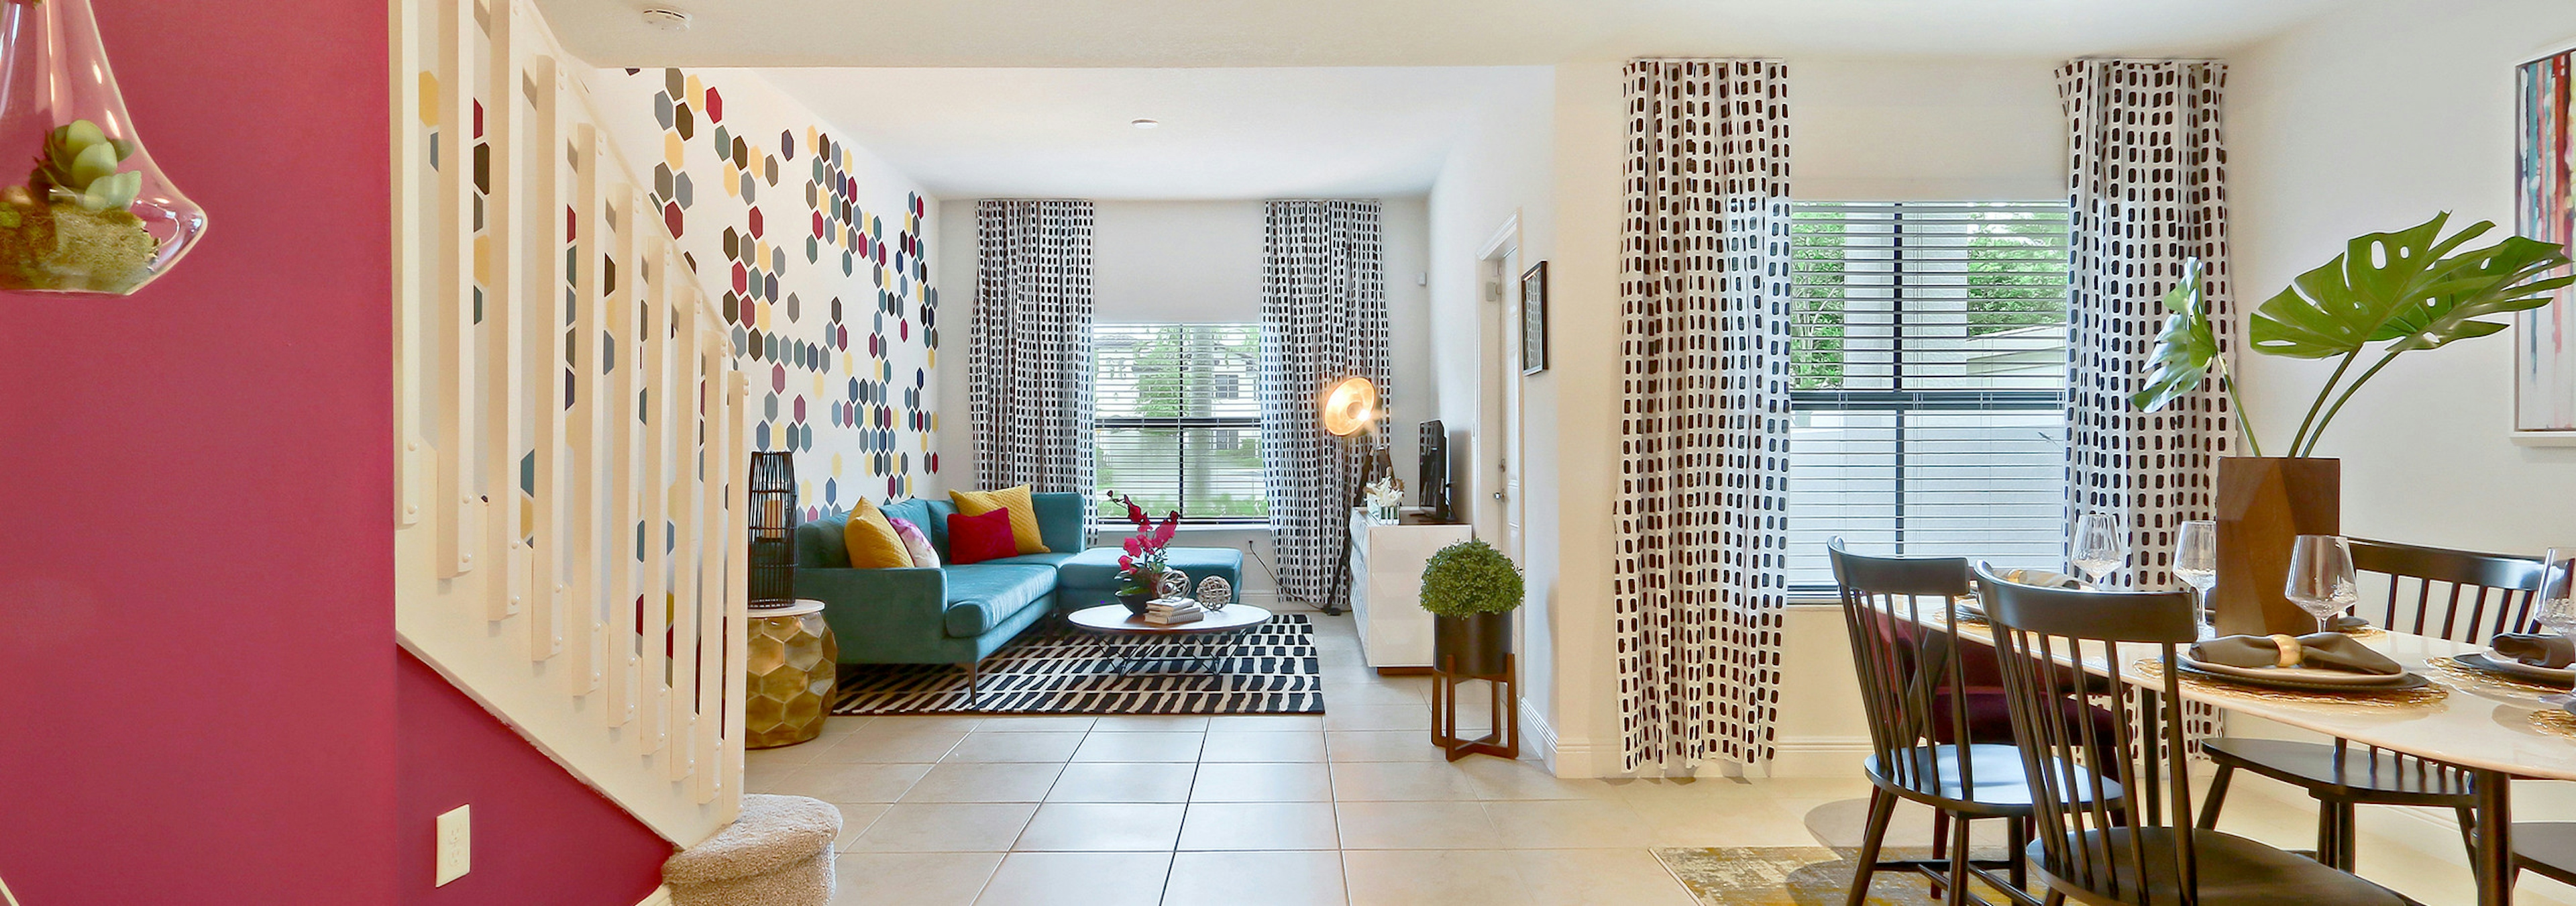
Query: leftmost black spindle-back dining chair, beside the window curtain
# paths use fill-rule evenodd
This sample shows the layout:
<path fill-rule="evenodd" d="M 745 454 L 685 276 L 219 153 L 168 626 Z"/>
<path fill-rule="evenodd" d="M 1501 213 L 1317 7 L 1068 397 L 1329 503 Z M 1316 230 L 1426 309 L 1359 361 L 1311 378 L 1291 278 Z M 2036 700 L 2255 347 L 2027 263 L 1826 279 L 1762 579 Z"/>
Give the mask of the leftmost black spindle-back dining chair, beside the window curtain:
<path fill-rule="evenodd" d="M 1935 896 L 1965 891 L 1971 875 L 1996 891 L 2009 885 L 2007 896 L 2020 893 L 2027 885 L 2022 844 L 2032 806 L 1994 649 L 1940 631 L 1953 600 L 1968 597 L 1968 561 L 1860 556 L 1844 551 L 1842 538 L 1826 546 L 1826 556 L 1842 589 L 1860 700 L 1870 718 L 1870 757 L 1862 762 L 1870 777 L 1870 821 L 1850 903 L 1865 903 L 1870 880 L 1883 870 L 1919 873 L 1932 880 Z M 2063 703 L 2061 718 L 2107 721 L 2110 713 L 2076 695 Z M 1880 860 L 1899 800 L 1935 811 L 1932 860 Z M 1968 826 L 1989 818 L 2007 824 L 2012 847 L 2002 862 L 1973 862 Z M 2009 880 L 1986 875 L 1996 867 Z"/>

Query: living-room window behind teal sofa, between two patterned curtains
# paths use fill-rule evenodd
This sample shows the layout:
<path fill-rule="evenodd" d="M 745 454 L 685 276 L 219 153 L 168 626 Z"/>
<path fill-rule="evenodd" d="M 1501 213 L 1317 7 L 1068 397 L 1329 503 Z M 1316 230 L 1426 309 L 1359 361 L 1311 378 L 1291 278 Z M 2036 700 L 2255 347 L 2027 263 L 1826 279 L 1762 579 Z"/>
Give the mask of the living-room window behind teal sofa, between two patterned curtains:
<path fill-rule="evenodd" d="M 1092 324 L 1100 489 L 1190 522 L 1267 520 L 1260 368 L 1260 324 Z"/>

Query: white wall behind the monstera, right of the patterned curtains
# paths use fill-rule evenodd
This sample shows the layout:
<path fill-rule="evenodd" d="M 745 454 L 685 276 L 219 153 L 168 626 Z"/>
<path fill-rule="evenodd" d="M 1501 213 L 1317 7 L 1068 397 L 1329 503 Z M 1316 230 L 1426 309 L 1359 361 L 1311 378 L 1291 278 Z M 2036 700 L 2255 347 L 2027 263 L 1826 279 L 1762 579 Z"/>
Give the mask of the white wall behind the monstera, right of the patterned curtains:
<path fill-rule="evenodd" d="M 2233 59 L 2228 196 L 2236 309 L 2344 239 L 2452 224 L 2512 229 L 2514 64 L 2576 44 L 2563 0 L 2354 3 Z M 2576 543 L 2576 450 L 2517 448 L 2512 340 L 2409 353 L 2334 420 L 2344 530 L 2478 551 Z M 2241 360 L 2264 453 L 2287 445 L 2331 363 Z"/>

